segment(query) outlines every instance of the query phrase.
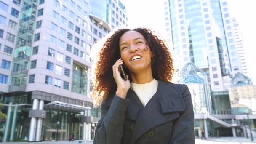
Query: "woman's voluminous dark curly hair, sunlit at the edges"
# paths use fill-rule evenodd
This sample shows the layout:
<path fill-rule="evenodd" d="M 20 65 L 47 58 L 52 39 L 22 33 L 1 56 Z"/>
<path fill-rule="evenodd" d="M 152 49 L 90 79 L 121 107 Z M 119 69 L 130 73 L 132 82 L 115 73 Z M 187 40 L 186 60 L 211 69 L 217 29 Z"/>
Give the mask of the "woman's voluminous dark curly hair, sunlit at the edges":
<path fill-rule="evenodd" d="M 107 99 L 109 93 L 115 93 L 117 85 L 113 77 L 112 66 L 120 56 L 119 40 L 131 29 L 117 29 L 107 40 L 97 53 L 97 60 L 93 61 L 94 69 L 92 74 L 93 90 L 91 98 L 95 107 L 100 101 Z M 173 58 L 164 40 L 161 40 L 155 32 L 147 28 L 136 28 L 133 31 L 141 33 L 146 44 L 152 51 L 152 75 L 156 80 L 171 81 L 174 73 Z M 130 74 L 128 72 L 129 77 Z M 131 81 L 131 79 L 130 79 Z"/>

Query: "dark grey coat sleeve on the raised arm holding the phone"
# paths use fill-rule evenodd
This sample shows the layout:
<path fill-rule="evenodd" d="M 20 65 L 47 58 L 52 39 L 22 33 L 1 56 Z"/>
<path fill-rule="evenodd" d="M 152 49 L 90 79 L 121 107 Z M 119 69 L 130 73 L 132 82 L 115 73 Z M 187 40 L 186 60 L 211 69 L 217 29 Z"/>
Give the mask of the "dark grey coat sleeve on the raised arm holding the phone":
<path fill-rule="evenodd" d="M 121 144 L 127 105 L 128 100 L 116 95 L 110 107 L 107 100 L 101 104 L 101 118 L 95 128 L 93 144 Z"/>

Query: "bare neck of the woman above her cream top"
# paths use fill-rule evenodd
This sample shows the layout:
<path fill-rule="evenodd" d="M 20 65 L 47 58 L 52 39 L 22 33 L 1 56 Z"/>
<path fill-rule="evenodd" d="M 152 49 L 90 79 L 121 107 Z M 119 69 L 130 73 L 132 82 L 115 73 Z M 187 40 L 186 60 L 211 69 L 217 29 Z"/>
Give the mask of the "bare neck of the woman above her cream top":
<path fill-rule="evenodd" d="M 133 83 L 144 84 L 151 82 L 153 79 L 152 71 L 145 71 L 137 74 L 131 73 L 131 80 Z"/>

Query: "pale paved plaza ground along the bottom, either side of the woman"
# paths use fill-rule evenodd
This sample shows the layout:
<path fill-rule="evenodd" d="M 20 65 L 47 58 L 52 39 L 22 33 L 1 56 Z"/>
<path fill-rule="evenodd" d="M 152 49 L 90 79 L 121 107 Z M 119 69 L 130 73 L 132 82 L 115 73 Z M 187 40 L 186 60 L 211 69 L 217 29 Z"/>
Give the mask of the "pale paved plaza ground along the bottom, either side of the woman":
<path fill-rule="evenodd" d="M 256 139 L 256 138 L 255 138 Z M 251 139 L 244 137 L 221 137 L 221 138 L 208 138 L 207 140 L 196 139 L 196 144 L 256 144 L 251 142 Z M 92 144 L 92 141 L 82 143 L 81 141 L 42 141 L 42 142 L 0 142 L 0 144 Z"/>

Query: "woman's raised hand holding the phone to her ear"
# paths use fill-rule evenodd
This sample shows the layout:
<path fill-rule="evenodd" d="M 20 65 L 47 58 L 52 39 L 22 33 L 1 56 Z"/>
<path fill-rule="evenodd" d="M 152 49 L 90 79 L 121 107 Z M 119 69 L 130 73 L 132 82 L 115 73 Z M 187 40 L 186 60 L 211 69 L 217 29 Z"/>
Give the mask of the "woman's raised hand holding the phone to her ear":
<path fill-rule="evenodd" d="M 126 98 L 126 94 L 127 91 L 129 90 L 129 88 L 131 87 L 131 83 L 128 80 L 128 75 L 126 75 L 127 80 L 124 80 L 121 75 L 120 72 L 118 71 L 118 67 L 123 64 L 123 60 L 120 58 L 118 59 L 115 64 L 113 65 L 112 69 L 113 69 L 113 77 L 115 79 L 115 83 L 117 84 L 117 91 L 116 91 L 116 95 L 125 99 Z"/>

